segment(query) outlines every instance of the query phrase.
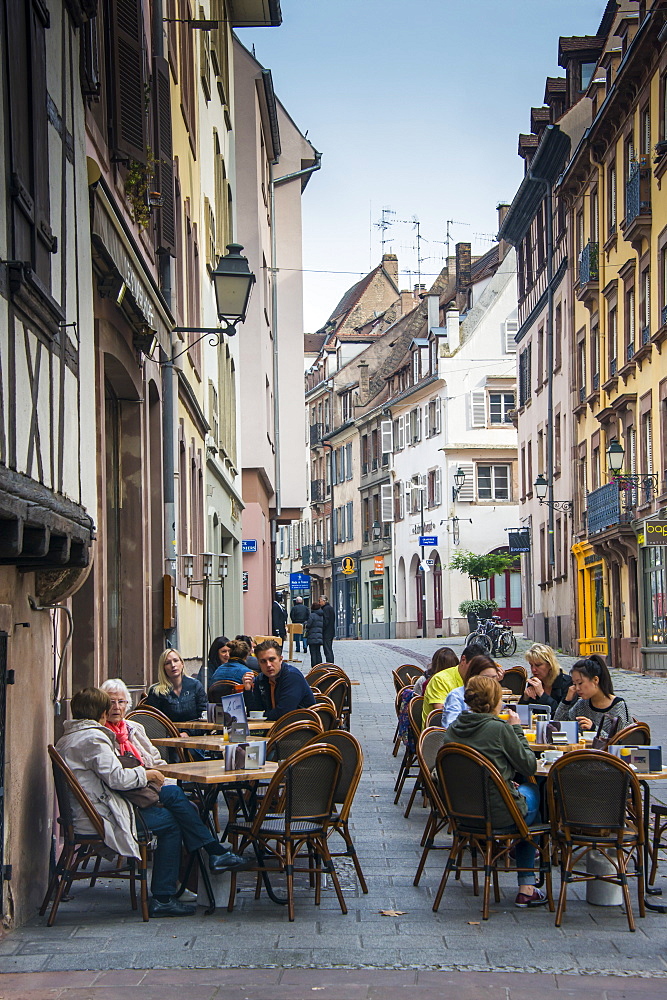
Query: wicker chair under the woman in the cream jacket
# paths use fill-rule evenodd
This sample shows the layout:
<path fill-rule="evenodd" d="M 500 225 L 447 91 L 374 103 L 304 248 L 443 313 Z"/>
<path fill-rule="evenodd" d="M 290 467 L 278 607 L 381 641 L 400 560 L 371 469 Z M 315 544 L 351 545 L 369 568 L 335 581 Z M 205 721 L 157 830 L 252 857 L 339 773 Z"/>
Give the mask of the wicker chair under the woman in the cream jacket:
<path fill-rule="evenodd" d="M 56 864 L 55 871 L 51 876 L 46 895 L 42 901 L 39 913 L 44 916 L 46 909 L 53 897 L 51 912 L 47 920 L 47 926 L 53 927 L 58 913 L 58 907 L 63 895 L 72 882 L 82 879 L 90 879 L 91 886 L 95 884 L 99 876 L 102 856 L 108 855 L 109 848 L 104 843 L 104 823 L 97 809 L 86 795 L 85 791 L 76 779 L 76 776 L 67 766 L 63 758 L 53 746 L 49 746 L 49 757 L 53 767 L 53 779 L 56 788 L 56 798 L 58 799 L 58 823 L 63 836 L 63 847 Z M 72 799 L 75 799 L 88 820 L 92 823 L 95 833 L 77 833 L 74 828 L 74 813 L 72 810 Z M 132 909 L 137 908 L 136 879 L 139 879 L 141 916 L 148 920 L 148 845 L 146 839 L 142 837 L 139 830 L 139 852 L 140 859 L 127 858 L 125 863 L 121 863 L 118 858 L 118 865 L 111 870 L 104 871 L 105 879 L 125 879 L 130 883 L 130 901 Z M 81 870 L 82 865 L 87 864 L 95 858 L 95 867 L 91 872 Z M 55 893 L 55 895 L 54 895 Z"/>

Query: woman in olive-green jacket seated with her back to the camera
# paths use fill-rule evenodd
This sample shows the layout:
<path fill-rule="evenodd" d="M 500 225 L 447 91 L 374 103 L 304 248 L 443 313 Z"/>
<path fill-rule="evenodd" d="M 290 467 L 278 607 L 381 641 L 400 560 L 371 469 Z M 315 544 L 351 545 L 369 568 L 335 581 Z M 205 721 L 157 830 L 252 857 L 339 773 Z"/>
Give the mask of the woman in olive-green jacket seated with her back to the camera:
<path fill-rule="evenodd" d="M 473 677 L 466 685 L 468 711 L 459 715 L 445 734 L 445 743 L 463 743 L 477 750 L 500 771 L 505 784 L 516 800 L 528 826 L 535 822 L 540 798 L 537 785 L 517 785 L 519 774 L 531 777 L 537 770 L 537 760 L 523 734 L 516 712 L 509 711 L 507 722 L 498 716 L 503 707 L 502 688 L 492 677 Z M 509 813 L 494 788 L 491 789 L 491 811 L 494 825 L 509 826 Z M 546 895 L 535 885 L 535 848 L 528 841 L 516 845 L 516 868 L 519 891 L 515 905 L 541 906 Z"/>

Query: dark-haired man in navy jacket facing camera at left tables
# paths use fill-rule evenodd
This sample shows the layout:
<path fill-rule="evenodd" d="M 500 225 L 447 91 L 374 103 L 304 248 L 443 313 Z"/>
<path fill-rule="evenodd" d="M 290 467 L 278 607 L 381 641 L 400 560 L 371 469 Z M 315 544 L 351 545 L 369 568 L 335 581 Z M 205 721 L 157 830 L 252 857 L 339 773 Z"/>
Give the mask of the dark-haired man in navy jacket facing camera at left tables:
<path fill-rule="evenodd" d="M 272 639 L 255 647 L 261 673 L 258 677 L 246 674 L 243 678 L 244 698 L 249 712 L 263 711 L 267 719 L 275 722 L 295 708 L 309 708 L 315 696 L 296 667 L 283 660 L 280 645 Z"/>

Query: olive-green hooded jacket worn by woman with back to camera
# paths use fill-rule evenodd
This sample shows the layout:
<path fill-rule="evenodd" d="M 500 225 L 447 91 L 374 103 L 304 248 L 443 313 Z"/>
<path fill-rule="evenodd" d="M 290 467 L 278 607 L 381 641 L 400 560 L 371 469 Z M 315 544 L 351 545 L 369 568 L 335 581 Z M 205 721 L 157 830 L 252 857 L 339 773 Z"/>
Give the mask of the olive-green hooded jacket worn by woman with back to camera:
<path fill-rule="evenodd" d="M 527 806 L 523 795 L 514 786 L 514 775 L 530 777 L 537 770 L 537 759 L 530 749 L 520 725 L 509 725 L 497 715 L 464 712 L 452 722 L 445 733 L 445 743 L 463 743 L 483 754 L 500 771 L 522 815 Z M 491 788 L 491 812 L 494 825 L 509 826 L 509 813 L 500 794 Z"/>

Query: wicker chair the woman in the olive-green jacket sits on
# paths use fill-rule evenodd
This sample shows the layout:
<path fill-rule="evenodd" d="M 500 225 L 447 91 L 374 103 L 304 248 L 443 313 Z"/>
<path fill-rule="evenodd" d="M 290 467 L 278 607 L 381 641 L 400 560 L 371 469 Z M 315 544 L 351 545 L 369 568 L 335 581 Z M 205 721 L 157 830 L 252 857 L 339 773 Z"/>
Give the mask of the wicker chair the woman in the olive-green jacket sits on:
<path fill-rule="evenodd" d="M 553 911 L 551 892 L 551 852 L 548 823 L 526 825 L 513 796 L 498 769 L 481 753 L 460 743 L 449 743 L 438 751 L 436 758 L 438 789 L 452 824 L 453 840 L 445 870 L 433 903 L 437 911 L 447 880 L 452 871 L 457 875 L 470 871 L 473 891 L 478 894 L 479 872 L 484 873 L 482 919 L 489 919 L 491 878 L 495 901 L 500 902 L 498 865 L 507 865 L 509 852 L 519 840 L 534 844 L 539 857 L 540 873 L 546 882 L 549 909 Z M 491 790 L 495 789 L 509 814 L 510 823 L 498 826 L 491 813 Z M 462 865 L 463 852 L 470 850 L 470 866 Z M 481 864 L 478 857 L 481 854 Z"/>

